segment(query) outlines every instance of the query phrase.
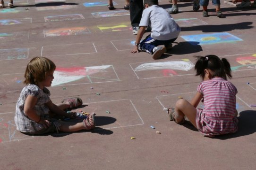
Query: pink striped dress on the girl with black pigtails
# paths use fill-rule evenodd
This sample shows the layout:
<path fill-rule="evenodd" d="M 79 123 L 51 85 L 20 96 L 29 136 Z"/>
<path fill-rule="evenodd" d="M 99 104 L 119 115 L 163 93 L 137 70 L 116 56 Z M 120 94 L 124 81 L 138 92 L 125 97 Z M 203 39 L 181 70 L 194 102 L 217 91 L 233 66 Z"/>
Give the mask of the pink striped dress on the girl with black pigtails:
<path fill-rule="evenodd" d="M 236 114 L 237 88 L 229 81 L 216 77 L 201 82 L 197 92 L 204 97 L 204 109 L 196 109 L 196 126 L 204 136 L 213 137 L 238 131 Z"/>

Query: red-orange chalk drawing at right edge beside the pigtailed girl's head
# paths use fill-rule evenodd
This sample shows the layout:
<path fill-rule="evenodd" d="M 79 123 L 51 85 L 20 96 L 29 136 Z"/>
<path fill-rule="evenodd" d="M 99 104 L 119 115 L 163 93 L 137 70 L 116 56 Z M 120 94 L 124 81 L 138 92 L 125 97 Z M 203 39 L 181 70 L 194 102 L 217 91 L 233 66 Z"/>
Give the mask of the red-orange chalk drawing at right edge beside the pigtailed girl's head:
<path fill-rule="evenodd" d="M 237 70 L 254 70 L 256 69 L 256 54 L 245 54 L 236 58 L 236 62 L 240 65 L 232 66 L 232 71 Z"/>

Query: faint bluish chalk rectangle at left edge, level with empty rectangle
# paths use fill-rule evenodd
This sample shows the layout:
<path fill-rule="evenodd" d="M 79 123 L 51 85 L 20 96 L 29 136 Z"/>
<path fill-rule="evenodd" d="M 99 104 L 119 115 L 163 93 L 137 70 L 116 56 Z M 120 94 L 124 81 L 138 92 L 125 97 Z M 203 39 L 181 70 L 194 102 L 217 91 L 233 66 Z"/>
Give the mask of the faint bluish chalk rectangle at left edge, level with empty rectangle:
<path fill-rule="evenodd" d="M 0 60 L 26 58 L 28 58 L 28 48 L 0 49 Z"/>

